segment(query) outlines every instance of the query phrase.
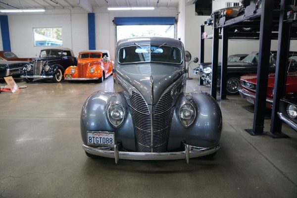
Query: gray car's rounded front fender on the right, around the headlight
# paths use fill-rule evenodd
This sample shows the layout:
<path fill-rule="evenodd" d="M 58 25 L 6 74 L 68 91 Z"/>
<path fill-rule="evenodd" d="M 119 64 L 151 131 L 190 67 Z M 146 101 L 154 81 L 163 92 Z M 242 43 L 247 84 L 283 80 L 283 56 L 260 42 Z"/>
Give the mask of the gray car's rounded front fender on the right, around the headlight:
<path fill-rule="evenodd" d="M 196 107 L 196 118 L 191 126 L 183 126 L 178 117 L 179 107 L 190 102 Z M 215 99 L 208 93 L 184 93 L 174 107 L 168 149 L 176 148 L 181 138 L 196 147 L 211 147 L 219 143 L 222 131 L 222 113 Z"/>

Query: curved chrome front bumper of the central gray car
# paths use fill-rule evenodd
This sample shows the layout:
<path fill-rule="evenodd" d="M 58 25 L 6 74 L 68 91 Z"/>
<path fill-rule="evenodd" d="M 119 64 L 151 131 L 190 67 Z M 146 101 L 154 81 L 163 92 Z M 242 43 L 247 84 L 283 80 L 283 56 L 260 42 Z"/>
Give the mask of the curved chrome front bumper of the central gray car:
<path fill-rule="evenodd" d="M 212 154 L 216 152 L 221 145 L 216 145 L 209 148 L 193 147 L 185 145 L 184 151 L 179 152 L 126 152 L 119 151 L 118 146 L 104 147 L 104 148 L 93 148 L 87 145 L 83 145 L 83 149 L 94 155 L 114 158 L 117 164 L 119 159 L 134 159 L 134 160 L 172 160 L 172 159 L 186 159 L 189 163 L 189 158 L 200 157 Z M 110 150 L 113 149 L 113 150 Z"/>

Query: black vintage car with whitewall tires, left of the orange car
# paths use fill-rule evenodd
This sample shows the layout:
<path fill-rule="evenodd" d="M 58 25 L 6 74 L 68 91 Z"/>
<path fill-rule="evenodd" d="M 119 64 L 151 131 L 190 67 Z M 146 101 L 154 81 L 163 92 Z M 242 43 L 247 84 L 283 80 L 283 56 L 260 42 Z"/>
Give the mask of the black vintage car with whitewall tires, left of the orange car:
<path fill-rule="evenodd" d="M 69 48 L 42 49 L 33 64 L 23 67 L 21 78 L 26 82 L 32 82 L 33 79 L 52 79 L 57 83 L 62 80 L 65 69 L 76 64 L 77 58 Z"/>

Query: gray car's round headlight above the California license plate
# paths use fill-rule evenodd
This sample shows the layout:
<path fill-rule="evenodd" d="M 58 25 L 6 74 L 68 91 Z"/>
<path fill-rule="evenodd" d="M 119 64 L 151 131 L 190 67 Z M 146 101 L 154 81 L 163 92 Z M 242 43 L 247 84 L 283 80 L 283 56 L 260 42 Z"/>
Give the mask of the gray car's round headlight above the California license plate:
<path fill-rule="evenodd" d="M 125 109 L 122 105 L 118 103 L 111 104 L 108 108 L 108 120 L 115 126 L 119 127 L 125 118 Z"/>

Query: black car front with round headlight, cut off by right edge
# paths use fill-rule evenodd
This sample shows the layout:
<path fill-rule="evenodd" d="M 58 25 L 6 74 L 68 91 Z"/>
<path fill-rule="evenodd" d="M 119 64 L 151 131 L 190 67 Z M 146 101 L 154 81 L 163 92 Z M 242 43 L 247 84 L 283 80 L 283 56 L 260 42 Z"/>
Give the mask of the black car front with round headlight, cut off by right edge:
<path fill-rule="evenodd" d="M 297 94 L 287 95 L 279 103 L 278 116 L 297 131 Z"/>

